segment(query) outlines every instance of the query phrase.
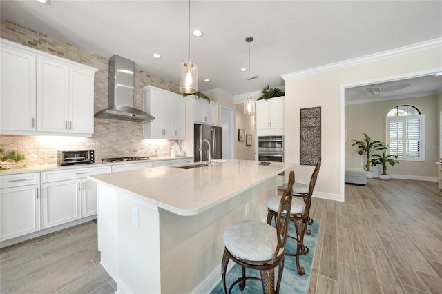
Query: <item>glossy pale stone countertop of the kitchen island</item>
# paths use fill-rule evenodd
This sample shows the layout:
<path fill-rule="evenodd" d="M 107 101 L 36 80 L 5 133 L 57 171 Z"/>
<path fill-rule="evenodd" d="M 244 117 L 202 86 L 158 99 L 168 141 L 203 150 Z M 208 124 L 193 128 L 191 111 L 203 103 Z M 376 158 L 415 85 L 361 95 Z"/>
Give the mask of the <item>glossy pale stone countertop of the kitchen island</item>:
<path fill-rule="evenodd" d="M 147 204 L 189 216 L 217 206 L 290 168 L 294 164 L 261 165 L 260 161 L 226 159 L 198 168 L 164 166 L 93 175 L 89 179 L 130 193 Z"/>

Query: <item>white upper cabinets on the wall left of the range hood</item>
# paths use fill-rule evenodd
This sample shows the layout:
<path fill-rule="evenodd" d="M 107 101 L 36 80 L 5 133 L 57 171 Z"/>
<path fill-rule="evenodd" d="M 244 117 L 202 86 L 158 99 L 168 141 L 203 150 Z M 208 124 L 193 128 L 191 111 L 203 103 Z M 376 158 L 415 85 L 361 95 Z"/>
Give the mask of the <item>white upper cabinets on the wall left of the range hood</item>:
<path fill-rule="evenodd" d="M 1 134 L 93 134 L 95 68 L 1 39 Z"/>

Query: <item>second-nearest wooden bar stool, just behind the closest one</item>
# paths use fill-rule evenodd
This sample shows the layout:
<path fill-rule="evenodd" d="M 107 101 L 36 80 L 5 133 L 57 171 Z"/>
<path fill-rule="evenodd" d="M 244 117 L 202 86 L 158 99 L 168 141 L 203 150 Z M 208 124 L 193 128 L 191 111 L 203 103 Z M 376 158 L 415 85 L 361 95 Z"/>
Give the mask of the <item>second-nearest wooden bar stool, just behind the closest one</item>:
<path fill-rule="evenodd" d="M 305 274 L 304 267 L 301 267 L 299 264 L 299 256 L 301 254 L 303 255 L 309 254 L 309 248 L 307 246 L 304 246 L 304 233 L 307 230 L 307 222 L 308 222 L 309 209 L 311 204 L 311 195 L 313 194 L 313 190 L 316 184 L 316 179 L 318 178 L 319 168 L 320 168 L 320 161 L 318 161 L 318 163 L 316 164 L 313 174 L 311 175 L 307 196 L 305 198 L 294 197 L 291 200 L 290 220 L 294 223 L 296 230 L 296 237 L 290 235 L 288 237 L 296 240 L 296 253 L 285 253 L 285 254 L 290 256 L 296 256 L 296 267 L 298 268 L 299 275 Z M 292 195 L 294 194 L 292 193 Z M 268 210 L 267 224 L 271 224 L 273 217 L 276 217 L 276 220 L 278 220 L 279 216 L 276 210 L 278 199 L 279 199 L 278 196 L 267 199 L 266 202 Z"/>

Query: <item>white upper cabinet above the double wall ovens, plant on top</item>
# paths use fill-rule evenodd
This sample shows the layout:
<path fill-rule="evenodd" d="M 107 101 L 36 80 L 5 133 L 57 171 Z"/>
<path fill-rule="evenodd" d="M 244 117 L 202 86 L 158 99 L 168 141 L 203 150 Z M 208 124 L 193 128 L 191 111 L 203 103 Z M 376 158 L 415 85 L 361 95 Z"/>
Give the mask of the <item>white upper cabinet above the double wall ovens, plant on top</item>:
<path fill-rule="evenodd" d="M 256 130 L 284 131 L 284 97 L 256 101 Z"/>

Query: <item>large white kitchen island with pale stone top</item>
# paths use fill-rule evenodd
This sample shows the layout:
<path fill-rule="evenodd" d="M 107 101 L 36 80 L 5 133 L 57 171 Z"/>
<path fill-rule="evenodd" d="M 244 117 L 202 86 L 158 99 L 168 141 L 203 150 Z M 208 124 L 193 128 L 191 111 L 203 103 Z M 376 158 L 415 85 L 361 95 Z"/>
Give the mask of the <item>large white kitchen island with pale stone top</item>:
<path fill-rule="evenodd" d="M 221 277 L 224 230 L 264 220 L 278 173 L 293 168 L 227 159 L 90 176 L 98 183 L 101 263 L 117 292 L 208 293 Z"/>

